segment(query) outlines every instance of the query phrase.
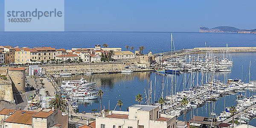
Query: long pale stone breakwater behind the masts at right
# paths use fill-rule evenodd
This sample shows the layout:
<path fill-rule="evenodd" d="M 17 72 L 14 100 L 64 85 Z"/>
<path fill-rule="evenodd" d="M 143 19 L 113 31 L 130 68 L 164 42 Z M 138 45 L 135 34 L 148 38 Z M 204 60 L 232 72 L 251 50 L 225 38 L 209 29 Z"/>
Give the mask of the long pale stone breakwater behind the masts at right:
<path fill-rule="evenodd" d="M 155 56 L 163 55 L 163 58 L 171 58 L 175 56 L 189 55 L 195 53 L 205 53 L 211 51 L 212 53 L 228 52 L 256 52 L 256 47 L 195 47 L 193 49 L 181 49 L 172 52 L 163 52 L 154 54 Z M 171 56 L 172 55 L 172 56 Z"/>

